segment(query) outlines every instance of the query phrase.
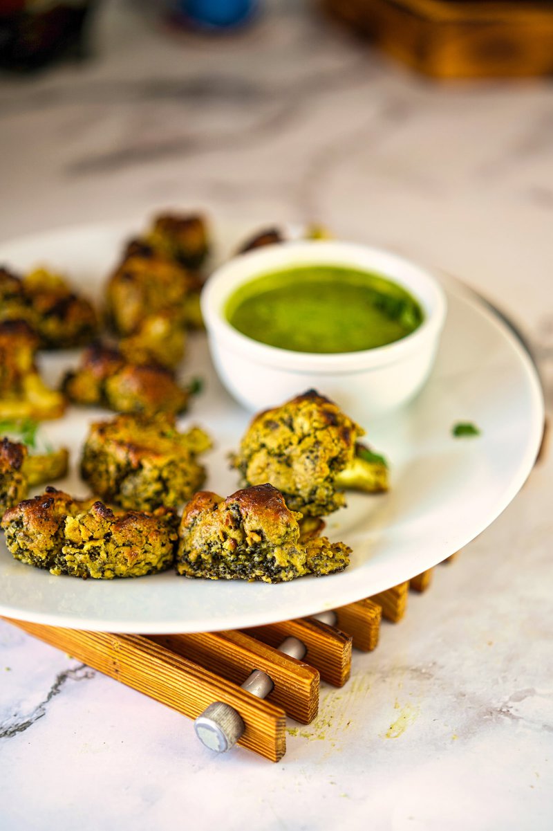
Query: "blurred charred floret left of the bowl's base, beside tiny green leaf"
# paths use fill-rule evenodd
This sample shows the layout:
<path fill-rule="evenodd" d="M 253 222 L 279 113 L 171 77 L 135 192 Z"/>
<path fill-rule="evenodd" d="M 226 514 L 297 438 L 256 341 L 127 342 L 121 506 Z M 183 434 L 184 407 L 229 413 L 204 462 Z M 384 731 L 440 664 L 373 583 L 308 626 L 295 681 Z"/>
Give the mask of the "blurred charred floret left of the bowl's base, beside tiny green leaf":
<path fill-rule="evenodd" d="M 75 404 L 146 416 L 183 412 L 189 396 L 164 367 L 129 363 L 119 350 L 100 344 L 85 350 L 81 366 L 66 375 L 63 390 Z"/>

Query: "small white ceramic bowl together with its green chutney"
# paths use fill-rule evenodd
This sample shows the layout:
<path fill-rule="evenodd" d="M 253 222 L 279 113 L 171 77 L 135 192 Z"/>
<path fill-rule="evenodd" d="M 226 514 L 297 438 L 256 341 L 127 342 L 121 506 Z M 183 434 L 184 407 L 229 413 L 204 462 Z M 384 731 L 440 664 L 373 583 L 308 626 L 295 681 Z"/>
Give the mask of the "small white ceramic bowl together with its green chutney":
<path fill-rule="evenodd" d="M 218 376 L 248 410 L 313 388 L 361 425 L 422 389 L 447 307 L 427 268 L 319 240 L 233 257 L 208 278 L 200 302 Z"/>

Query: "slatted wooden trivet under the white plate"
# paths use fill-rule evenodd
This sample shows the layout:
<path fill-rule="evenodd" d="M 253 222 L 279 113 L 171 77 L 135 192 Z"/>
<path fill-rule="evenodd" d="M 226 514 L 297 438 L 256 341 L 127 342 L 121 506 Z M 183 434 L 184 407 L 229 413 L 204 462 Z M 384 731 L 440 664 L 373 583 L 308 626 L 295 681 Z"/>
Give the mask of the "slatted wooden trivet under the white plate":
<path fill-rule="evenodd" d="M 196 720 L 198 735 L 198 717 L 209 716 L 215 706 L 216 726 L 228 741 L 224 748 L 209 746 L 223 750 L 236 742 L 276 762 L 286 752 L 286 715 L 309 724 L 317 715 L 320 680 L 343 686 L 352 647 L 373 650 L 381 617 L 399 622 L 409 588 L 425 591 L 431 576 L 428 569 L 374 597 L 321 613 L 323 620 L 306 617 L 244 632 L 143 637 L 5 620 Z M 286 639 L 299 644 L 301 660 L 292 656 L 294 648 L 289 654 L 276 648 L 286 649 Z M 266 697 L 258 697 L 265 690 Z M 209 730 L 212 721 L 207 718 Z"/>

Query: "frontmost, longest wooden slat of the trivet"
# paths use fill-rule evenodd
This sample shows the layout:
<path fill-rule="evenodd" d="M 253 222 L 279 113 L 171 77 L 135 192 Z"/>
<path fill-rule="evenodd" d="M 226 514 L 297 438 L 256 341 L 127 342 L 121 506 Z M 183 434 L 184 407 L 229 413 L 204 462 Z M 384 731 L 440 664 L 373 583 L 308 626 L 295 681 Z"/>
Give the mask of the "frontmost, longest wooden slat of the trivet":
<path fill-rule="evenodd" d="M 223 701 L 237 710 L 246 725 L 239 745 L 273 762 L 286 752 L 284 711 L 158 643 L 139 635 L 6 620 L 189 718 L 196 718 L 213 701 Z"/>

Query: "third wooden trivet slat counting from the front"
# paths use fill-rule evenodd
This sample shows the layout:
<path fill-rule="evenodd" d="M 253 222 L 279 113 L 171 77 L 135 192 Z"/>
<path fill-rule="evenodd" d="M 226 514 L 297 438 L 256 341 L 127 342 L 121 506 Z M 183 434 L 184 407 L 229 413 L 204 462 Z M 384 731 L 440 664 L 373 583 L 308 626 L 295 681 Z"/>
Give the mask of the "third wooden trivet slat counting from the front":
<path fill-rule="evenodd" d="M 316 667 L 323 681 L 333 686 L 344 686 L 350 677 L 351 637 L 313 617 L 269 623 L 245 631 L 272 647 L 277 647 L 285 637 L 297 637 L 307 647 L 304 661 Z"/>

